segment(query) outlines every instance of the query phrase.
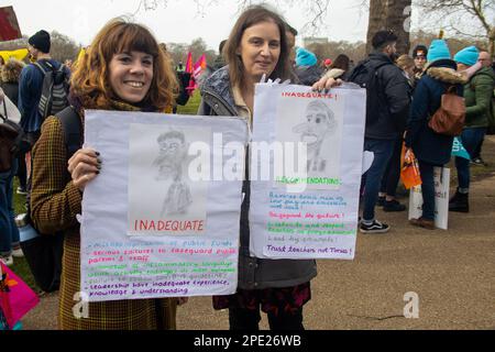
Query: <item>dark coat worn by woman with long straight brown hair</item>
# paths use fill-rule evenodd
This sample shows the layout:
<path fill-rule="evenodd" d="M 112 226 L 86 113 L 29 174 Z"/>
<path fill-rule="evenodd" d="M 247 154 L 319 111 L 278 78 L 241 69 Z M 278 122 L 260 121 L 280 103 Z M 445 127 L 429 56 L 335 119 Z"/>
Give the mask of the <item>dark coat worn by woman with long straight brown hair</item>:
<path fill-rule="evenodd" d="M 201 116 L 237 116 L 230 87 L 228 67 L 215 72 L 201 87 Z M 246 153 L 248 155 L 249 153 Z M 249 167 L 246 167 L 246 179 Z M 241 207 L 241 249 L 239 253 L 239 283 L 242 289 L 292 287 L 309 282 L 317 275 L 312 260 L 262 260 L 250 255 L 250 182 L 242 186 L 244 200 Z"/>

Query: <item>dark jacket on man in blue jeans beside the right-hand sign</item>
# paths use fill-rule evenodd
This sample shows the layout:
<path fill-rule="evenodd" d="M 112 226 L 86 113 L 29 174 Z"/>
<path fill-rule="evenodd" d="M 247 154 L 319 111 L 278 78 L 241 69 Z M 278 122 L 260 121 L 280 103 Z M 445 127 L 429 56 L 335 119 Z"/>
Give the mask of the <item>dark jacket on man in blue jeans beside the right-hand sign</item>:
<path fill-rule="evenodd" d="M 410 86 L 402 69 L 387 55 L 372 53 L 369 62 L 373 67 L 383 66 L 377 69 L 380 89 L 367 92 L 367 99 L 377 101 L 378 108 L 366 111 L 365 138 L 395 140 L 406 127 Z"/>

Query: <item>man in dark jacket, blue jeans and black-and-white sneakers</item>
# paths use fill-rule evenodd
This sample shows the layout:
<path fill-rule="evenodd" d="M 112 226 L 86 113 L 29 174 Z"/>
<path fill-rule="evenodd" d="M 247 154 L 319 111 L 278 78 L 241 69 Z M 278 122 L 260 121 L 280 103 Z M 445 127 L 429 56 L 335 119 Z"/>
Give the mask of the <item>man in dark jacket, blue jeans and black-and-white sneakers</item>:
<path fill-rule="evenodd" d="M 372 44 L 374 51 L 354 68 L 349 80 L 366 89 L 364 151 L 374 154 L 373 164 L 363 176 L 360 231 L 384 233 L 389 226 L 375 219 L 375 205 L 395 141 L 406 125 L 410 100 L 407 79 L 394 64 L 397 36 L 392 31 L 378 31 Z"/>

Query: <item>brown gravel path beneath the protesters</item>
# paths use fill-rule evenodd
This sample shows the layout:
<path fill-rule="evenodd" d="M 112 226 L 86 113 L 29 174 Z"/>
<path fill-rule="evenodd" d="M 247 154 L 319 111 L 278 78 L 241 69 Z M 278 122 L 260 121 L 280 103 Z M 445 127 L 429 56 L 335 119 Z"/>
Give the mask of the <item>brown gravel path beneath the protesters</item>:
<path fill-rule="evenodd" d="M 495 136 L 483 155 L 495 164 Z M 388 233 L 359 233 L 354 261 L 318 261 L 306 328 L 495 329 L 495 175 L 476 179 L 470 196 L 471 212 L 451 212 L 448 231 L 414 228 L 405 212 L 378 210 Z M 404 317 L 406 293 L 419 297 L 417 319 Z M 24 329 L 56 329 L 56 294 L 42 297 Z M 228 329 L 228 312 L 215 311 L 210 297 L 191 298 L 178 308 L 177 326 Z"/>

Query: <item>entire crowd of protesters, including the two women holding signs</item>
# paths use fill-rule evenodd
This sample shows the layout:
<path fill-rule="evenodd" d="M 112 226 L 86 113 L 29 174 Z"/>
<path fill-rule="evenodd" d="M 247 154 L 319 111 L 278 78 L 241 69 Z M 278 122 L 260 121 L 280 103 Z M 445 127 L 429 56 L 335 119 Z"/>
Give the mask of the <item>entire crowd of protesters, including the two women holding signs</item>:
<path fill-rule="evenodd" d="M 400 152 L 416 155 L 422 179 L 422 216 L 410 223 L 435 229 L 433 167 L 451 158 L 453 138 L 436 133 L 428 121 L 448 91 L 465 98 L 465 128 L 460 135 L 472 162 L 481 161 L 481 145 L 491 121 L 495 74 L 486 52 L 469 46 L 453 57 L 447 41 L 418 45 L 413 56 L 398 55 L 397 36 L 380 31 L 373 52 L 354 67 L 341 54 L 333 61 L 319 58 L 295 47 L 297 31 L 280 15 L 262 6 L 251 7 L 237 20 L 213 72 L 205 78 L 198 114 L 235 116 L 253 123 L 254 88 L 263 75 L 273 80 L 292 79 L 315 90 L 331 89 L 352 81 L 366 87 L 366 124 L 363 151 L 374 161 L 362 179 L 363 233 L 384 233 L 391 227 L 378 221 L 376 206 L 384 211 L 404 211 L 396 199 Z M 86 53 L 67 66 L 52 59 L 51 38 L 40 31 L 29 38 L 32 59 L 46 69 L 59 70 L 69 80 L 67 109 L 84 125 L 85 110 L 172 112 L 177 96 L 190 78 L 174 65 L 153 34 L 143 25 L 122 19 L 110 21 L 96 35 Z M 21 127 L 33 148 L 12 168 L 0 174 L 0 260 L 11 265 L 22 255 L 19 230 L 13 221 L 13 177 L 19 194 L 29 194 L 33 226 L 45 235 L 64 237 L 59 296 L 61 329 L 174 329 L 176 307 L 187 298 L 163 298 L 90 302 L 90 317 L 73 314 L 80 292 L 80 233 L 76 216 L 81 213 L 85 187 L 98 177 L 105 164 L 98 151 L 81 147 L 69 154 L 59 119 L 43 116 L 40 100 L 43 70 L 35 64 L 10 59 L 1 67 L 2 96 L 21 112 Z M 187 100 L 186 100 L 187 101 Z M 82 136 L 80 142 L 82 142 Z M 80 143 L 82 144 L 82 143 Z M 469 160 L 455 158 L 459 187 L 450 210 L 469 211 Z M 28 167 L 26 167 L 28 166 Z M 317 275 L 312 260 L 263 260 L 250 255 L 250 182 L 243 184 L 241 208 L 239 285 L 234 295 L 213 297 L 215 309 L 229 309 L 230 328 L 257 329 L 260 310 L 267 314 L 271 329 L 304 329 L 304 305 L 311 298 L 310 280 Z M 7 229 L 7 230 L 6 230 Z"/>

